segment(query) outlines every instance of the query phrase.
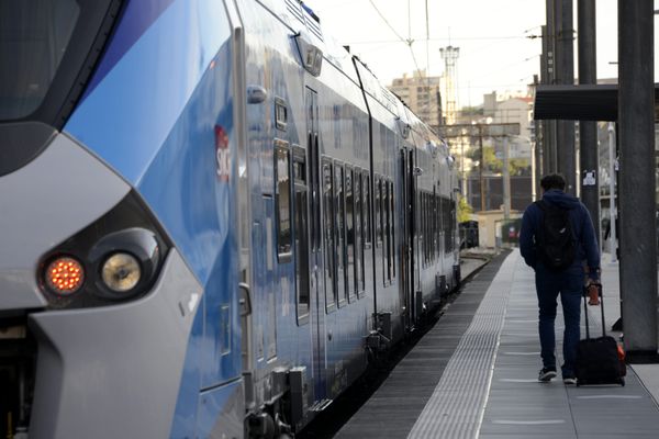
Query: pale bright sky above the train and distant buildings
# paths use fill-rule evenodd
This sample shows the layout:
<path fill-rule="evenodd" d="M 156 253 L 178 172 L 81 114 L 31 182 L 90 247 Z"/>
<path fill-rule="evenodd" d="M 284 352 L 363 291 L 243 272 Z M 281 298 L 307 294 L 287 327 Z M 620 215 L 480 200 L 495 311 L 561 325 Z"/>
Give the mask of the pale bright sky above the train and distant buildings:
<path fill-rule="evenodd" d="M 577 2 L 573 0 L 574 27 Z M 320 16 L 323 32 L 342 45 L 349 45 L 350 52 L 386 86 L 416 69 L 440 76 L 444 59 L 439 48 L 459 47 L 458 108 L 479 105 L 483 94 L 492 91 L 525 92 L 534 74 L 539 74 L 541 38 L 538 36 L 540 25 L 546 22 L 545 0 L 305 0 L 305 3 Z M 659 0 L 655 0 L 655 9 L 659 9 Z M 658 16 L 655 16 L 656 53 Z M 597 78 L 616 78 L 617 0 L 596 0 L 596 26 Z M 656 75 L 658 58 L 655 55 Z M 577 60 L 574 66 L 577 77 Z"/>

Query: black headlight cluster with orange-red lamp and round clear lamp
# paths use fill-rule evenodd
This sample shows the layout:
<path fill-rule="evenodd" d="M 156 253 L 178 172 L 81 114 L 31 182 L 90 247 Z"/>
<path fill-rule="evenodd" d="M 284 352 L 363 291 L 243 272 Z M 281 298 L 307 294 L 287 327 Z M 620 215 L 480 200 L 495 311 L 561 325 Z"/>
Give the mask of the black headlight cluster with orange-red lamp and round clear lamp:
<path fill-rule="evenodd" d="M 171 246 L 142 199 L 131 192 L 45 252 L 35 278 L 49 309 L 134 301 L 152 291 Z"/>

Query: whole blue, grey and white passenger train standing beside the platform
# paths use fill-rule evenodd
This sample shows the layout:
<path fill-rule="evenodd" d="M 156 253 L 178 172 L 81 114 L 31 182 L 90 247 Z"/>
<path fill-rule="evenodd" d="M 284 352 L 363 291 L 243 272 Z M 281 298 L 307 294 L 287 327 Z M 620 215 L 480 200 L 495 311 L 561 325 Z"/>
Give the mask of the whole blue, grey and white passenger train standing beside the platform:
<path fill-rule="evenodd" d="M 301 1 L 0 23 L 3 437 L 294 436 L 459 284 L 447 144 Z"/>

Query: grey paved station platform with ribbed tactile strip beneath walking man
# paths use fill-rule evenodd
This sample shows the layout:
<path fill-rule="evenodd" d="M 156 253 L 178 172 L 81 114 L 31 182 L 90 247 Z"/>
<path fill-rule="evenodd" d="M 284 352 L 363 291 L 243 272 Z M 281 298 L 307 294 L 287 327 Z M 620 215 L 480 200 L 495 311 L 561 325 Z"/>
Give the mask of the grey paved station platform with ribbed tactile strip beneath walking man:
<path fill-rule="evenodd" d="M 607 255 L 602 283 L 606 329 L 617 339 L 608 329 L 621 315 L 618 267 Z M 558 312 L 560 364 L 560 304 Z M 537 314 L 534 272 L 520 251 L 494 257 L 336 437 L 659 437 L 659 365 L 628 365 L 624 387 L 565 385 L 560 371 L 540 383 Z M 591 336 L 600 335 L 600 307 L 589 316 Z"/>

